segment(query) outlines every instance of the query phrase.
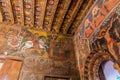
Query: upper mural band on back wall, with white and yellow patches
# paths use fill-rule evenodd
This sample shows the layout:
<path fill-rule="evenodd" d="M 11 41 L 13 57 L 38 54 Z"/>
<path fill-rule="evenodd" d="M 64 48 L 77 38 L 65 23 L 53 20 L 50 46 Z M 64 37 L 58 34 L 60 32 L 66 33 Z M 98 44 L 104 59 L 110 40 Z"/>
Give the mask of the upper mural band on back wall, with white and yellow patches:
<path fill-rule="evenodd" d="M 14 54 L 35 48 L 38 49 L 38 52 L 40 52 L 39 49 L 41 49 L 42 51 L 49 53 L 50 57 L 56 56 L 56 58 L 74 59 L 74 48 L 71 38 L 16 26 L 18 25 L 0 25 L 1 42 L 4 42 L 3 45 L 7 44 L 6 50 L 8 53 Z M 1 44 L 1 47 L 3 47 L 3 45 Z M 1 50 L 3 49 L 1 48 Z"/>

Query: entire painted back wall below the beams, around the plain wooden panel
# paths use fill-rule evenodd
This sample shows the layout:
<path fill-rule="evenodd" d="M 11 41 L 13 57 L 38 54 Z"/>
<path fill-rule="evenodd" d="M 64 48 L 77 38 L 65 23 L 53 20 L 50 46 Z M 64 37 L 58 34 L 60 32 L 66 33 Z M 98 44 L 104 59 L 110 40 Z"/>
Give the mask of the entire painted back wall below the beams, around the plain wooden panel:
<path fill-rule="evenodd" d="M 77 74 L 72 38 L 63 35 L 1 23 L 0 55 L 24 58 L 20 80 L 42 80 L 45 74 Z"/>

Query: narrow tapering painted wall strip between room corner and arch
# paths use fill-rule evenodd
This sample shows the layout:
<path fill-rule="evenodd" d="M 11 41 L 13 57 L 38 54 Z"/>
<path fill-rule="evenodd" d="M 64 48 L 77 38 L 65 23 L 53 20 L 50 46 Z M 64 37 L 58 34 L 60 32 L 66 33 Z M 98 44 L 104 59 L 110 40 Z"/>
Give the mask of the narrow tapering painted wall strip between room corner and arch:
<path fill-rule="evenodd" d="M 75 45 L 75 54 L 77 58 L 77 65 L 79 68 L 80 77 L 82 80 L 84 75 L 84 66 L 86 57 L 89 55 L 90 46 L 89 46 L 89 40 L 88 39 L 81 39 L 80 36 L 74 37 L 74 45 Z"/>

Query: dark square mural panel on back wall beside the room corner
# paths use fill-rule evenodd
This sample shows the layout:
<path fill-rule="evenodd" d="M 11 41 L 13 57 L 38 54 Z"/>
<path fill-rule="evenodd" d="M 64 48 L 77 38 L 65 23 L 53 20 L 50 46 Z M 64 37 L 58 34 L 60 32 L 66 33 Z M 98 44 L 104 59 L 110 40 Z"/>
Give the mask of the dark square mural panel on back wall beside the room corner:
<path fill-rule="evenodd" d="M 75 59 L 72 39 L 67 39 L 64 36 L 53 37 L 55 37 L 55 39 L 50 41 L 50 57 L 58 59 Z"/>

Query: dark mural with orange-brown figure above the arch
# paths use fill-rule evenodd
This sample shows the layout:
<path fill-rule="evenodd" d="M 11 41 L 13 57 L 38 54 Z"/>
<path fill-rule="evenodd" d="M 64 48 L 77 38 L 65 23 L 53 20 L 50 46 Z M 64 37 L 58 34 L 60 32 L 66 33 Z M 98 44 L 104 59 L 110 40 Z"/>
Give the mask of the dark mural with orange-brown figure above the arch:
<path fill-rule="evenodd" d="M 120 16 L 118 14 L 111 14 L 109 21 L 102 25 L 94 40 L 93 49 L 109 52 L 120 65 Z"/>

